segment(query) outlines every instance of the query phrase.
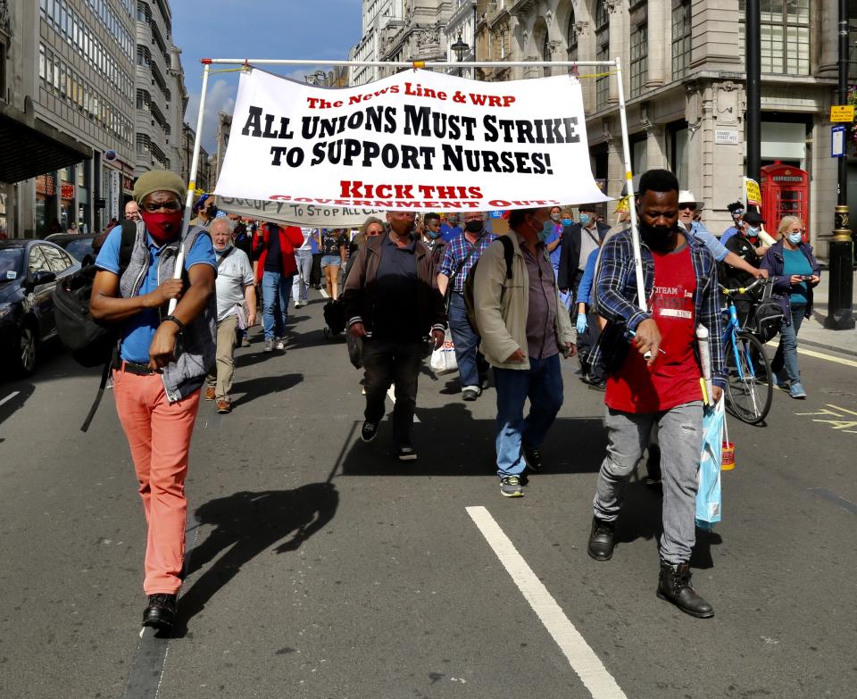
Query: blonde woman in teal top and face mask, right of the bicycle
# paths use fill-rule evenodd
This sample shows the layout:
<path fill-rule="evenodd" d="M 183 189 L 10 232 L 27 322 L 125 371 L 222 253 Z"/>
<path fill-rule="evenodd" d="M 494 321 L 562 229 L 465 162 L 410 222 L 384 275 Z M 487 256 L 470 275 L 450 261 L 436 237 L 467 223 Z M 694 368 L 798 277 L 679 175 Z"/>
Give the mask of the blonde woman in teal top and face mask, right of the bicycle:
<path fill-rule="evenodd" d="M 765 253 L 762 269 L 774 279 L 774 290 L 782 296 L 785 319 L 779 330 L 779 346 L 770 368 L 779 387 L 788 386 L 788 395 L 805 398 L 801 370 L 797 366 L 797 333 L 804 318 L 812 314 L 812 289 L 819 285 L 821 267 L 812 248 L 803 242 L 806 230 L 796 216 L 783 216 L 777 229 L 778 241 Z"/>

